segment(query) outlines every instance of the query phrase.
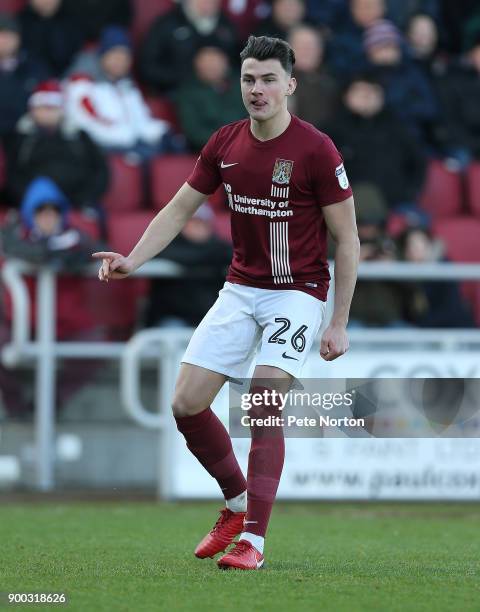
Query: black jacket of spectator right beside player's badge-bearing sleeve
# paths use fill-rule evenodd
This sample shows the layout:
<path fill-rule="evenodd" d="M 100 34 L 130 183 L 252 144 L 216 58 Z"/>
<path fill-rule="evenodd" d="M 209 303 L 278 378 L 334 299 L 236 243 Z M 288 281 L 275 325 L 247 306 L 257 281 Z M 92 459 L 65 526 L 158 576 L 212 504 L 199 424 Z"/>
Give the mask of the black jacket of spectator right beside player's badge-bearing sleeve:
<path fill-rule="evenodd" d="M 426 158 L 387 109 L 365 118 L 343 108 L 326 132 L 343 155 L 351 183 L 375 184 L 390 207 L 415 202 Z"/>

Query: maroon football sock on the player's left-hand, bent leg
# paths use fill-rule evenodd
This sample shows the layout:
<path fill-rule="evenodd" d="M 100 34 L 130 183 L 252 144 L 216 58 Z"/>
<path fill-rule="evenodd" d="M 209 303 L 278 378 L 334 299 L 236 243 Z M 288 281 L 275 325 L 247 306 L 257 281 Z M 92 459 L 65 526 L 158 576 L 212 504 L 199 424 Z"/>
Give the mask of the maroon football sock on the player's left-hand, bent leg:
<path fill-rule="evenodd" d="M 233 452 L 232 441 L 212 409 L 193 416 L 175 417 L 175 421 L 187 448 L 218 482 L 225 499 L 243 493 L 247 482 Z"/>

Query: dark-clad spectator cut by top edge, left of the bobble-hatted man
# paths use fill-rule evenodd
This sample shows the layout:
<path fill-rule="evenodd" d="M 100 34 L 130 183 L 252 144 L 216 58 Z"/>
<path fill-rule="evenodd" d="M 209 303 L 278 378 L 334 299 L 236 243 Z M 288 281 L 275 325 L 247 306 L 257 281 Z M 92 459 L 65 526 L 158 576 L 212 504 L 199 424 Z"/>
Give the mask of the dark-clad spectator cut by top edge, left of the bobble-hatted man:
<path fill-rule="evenodd" d="M 348 14 L 330 40 L 328 62 L 335 74 L 351 77 L 367 66 L 364 32 L 385 16 L 385 0 L 350 0 Z"/>

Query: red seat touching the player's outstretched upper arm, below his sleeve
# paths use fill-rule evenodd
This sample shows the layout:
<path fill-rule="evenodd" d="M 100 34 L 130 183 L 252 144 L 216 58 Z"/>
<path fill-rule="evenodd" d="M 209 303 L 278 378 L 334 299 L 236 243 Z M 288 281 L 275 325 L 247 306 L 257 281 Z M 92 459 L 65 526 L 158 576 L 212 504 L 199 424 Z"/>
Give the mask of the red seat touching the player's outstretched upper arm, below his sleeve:
<path fill-rule="evenodd" d="M 198 155 L 165 155 L 151 163 L 152 203 L 162 209 L 183 185 L 195 166 Z"/>

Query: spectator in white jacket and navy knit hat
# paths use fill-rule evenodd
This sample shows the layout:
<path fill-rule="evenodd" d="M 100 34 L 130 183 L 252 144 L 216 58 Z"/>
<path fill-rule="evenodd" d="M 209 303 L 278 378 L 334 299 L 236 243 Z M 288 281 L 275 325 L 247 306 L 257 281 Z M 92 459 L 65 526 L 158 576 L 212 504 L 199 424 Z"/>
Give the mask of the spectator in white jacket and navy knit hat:
<path fill-rule="evenodd" d="M 141 159 L 175 148 L 166 121 L 151 116 L 130 76 L 132 50 L 127 32 L 110 26 L 98 51 L 76 60 L 67 84 L 67 120 L 106 150 L 134 152 Z"/>

